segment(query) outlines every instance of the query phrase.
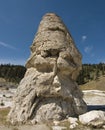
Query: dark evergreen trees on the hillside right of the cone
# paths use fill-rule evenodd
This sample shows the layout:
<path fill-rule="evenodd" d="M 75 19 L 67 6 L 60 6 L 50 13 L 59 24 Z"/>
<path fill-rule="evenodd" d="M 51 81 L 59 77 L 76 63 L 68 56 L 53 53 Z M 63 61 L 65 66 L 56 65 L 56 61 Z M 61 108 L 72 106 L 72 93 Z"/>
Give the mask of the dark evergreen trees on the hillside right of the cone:
<path fill-rule="evenodd" d="M 105 75 L 105 64 L 83 64 L 82 70 L 77 78 L 79 85 L 85 84 L 92 80 L 97 80 L 100 76 Z"/>

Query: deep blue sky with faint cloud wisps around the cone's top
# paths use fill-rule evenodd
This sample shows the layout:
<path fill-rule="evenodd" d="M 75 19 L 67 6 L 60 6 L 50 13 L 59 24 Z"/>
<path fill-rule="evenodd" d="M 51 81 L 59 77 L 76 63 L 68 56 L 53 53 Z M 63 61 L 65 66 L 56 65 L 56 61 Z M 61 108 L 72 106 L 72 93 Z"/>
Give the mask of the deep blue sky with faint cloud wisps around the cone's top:
<path fill-rule="evenodd" d="M 0 0 L 0 63 L 26 63 L 47 12 L 62 18 L 83 63 L 105 62 L 105 0 Z"/>

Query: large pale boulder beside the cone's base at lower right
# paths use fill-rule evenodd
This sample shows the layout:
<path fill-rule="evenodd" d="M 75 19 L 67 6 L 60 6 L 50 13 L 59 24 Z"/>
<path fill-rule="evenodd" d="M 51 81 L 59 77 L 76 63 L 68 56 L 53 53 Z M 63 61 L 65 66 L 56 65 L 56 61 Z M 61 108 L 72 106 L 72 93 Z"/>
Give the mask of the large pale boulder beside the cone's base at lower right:
<path fill-rule="evenodd" d="M 87 112 L 79 116 L 79 121 L 84 125 L 102 127 L 105 125 L 105 112 L 96 110 Z"/>

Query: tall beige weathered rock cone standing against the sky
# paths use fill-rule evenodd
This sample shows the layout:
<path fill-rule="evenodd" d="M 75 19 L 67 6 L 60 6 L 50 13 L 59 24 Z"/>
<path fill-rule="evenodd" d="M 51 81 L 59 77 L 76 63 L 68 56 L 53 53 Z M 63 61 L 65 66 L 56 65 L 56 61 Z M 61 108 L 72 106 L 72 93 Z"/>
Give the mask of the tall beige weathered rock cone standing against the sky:
<path fill-rule="evenodd" d="M 61 120 L 86 112 L 75 82 L 81 69 L 81 54 L 63 24 L 53 13 L 40 22 L 8 115 L 12 123 Z"/>

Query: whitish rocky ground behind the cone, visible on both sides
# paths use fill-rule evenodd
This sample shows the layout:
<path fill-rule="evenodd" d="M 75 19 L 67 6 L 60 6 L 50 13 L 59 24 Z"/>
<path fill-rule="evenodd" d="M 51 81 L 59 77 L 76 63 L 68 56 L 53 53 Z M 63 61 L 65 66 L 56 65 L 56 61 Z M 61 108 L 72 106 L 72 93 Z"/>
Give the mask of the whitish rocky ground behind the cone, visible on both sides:
<path fill-rule="evenodd" d="M 15 92 L 16 88 L 0 88 L 0 108 L 11 107 Z M 105 91 L 84 90 L 83 94 L 88 110 L 105 110 Z"/>

